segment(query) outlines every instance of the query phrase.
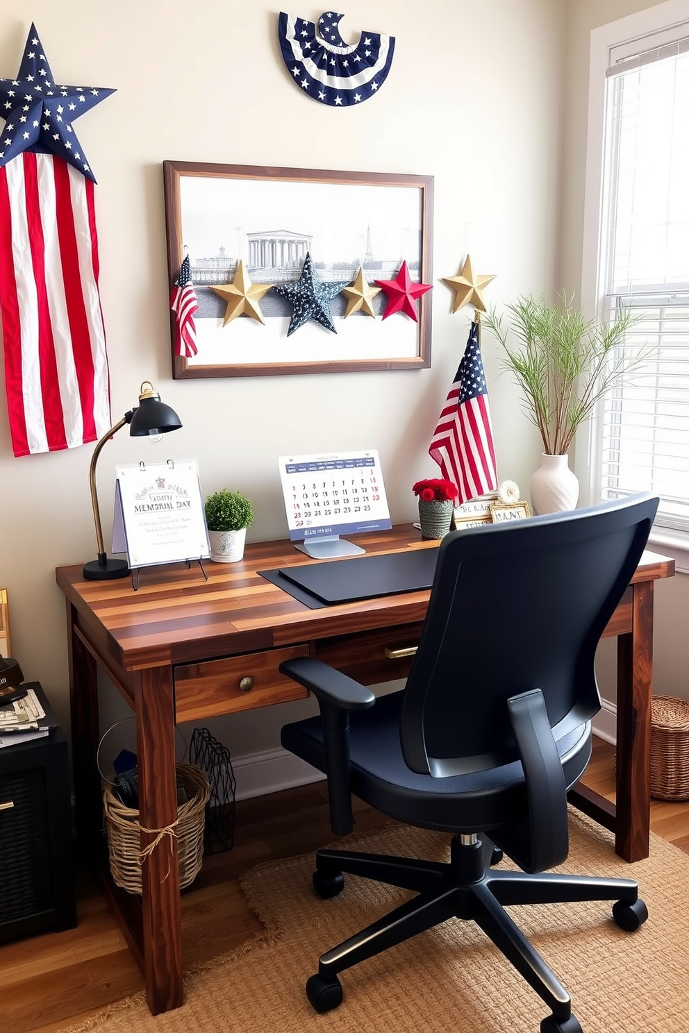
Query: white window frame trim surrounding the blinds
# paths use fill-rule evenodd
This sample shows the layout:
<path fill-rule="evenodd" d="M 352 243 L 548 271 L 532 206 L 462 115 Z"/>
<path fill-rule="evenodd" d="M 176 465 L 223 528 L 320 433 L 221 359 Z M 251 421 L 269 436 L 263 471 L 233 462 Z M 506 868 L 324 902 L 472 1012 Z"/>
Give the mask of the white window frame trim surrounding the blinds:
<path fill-rule="evenodd" d="M 638 40 L 653 36 L 689 21 L 689 0 L 666 0 L 617 22 L 602 25 L 591 32 L 589 66 L 589 112 L 587 162 L 584 205 L 584 236 L 582 262 L 582 305 L 590 315 L 604 311 L 604 298 L 600 291 L 600 223 L 602 212 L 603 144 L 605 117 L 605 71 L 609 65 L 610 51 L 629 44 L 629 51 L 638 52 Z M 643 49 L 643 44 L 641 44 Z M 619 54 L 624 51 L 618 51 Z M 574 453 L 576 473 L 582 496 L 581 502 L 600 500 L 598 421 L 594 417 L 584 426 L 577 436 Z M 671 556 L 677 569 L 689 573 L 689 534 L 669 528 L 654 527 L 649 546 Z"/>

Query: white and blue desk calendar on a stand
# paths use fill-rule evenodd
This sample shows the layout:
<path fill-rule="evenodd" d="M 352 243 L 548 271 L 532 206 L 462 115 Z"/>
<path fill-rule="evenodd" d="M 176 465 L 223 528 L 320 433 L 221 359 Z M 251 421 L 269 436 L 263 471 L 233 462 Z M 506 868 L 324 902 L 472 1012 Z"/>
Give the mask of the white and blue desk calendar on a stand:
<path fill-rule="evenodd" d="M 378 452 L 280 456 L 280 479 L 289 538 L 316 559 L 353 556 L 364 550 L 341 534 L 380 531 L 392 522 Z"/>

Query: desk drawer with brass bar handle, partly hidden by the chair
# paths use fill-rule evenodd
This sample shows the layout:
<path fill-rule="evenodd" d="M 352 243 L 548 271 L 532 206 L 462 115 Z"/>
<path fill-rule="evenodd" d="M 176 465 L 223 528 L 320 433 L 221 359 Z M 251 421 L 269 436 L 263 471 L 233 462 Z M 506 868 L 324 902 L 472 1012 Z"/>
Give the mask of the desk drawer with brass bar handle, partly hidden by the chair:
<path fill-rule="evenodd" d="M 315 644 L 314 655 L 317 660 L 330 663 L 363 685 L 392 682 L 407 677 L 413 655 L 390 657 L 387 653 L 400 653 L 417 646 L 422 627 L 419 621 L 417 624 L 376 628 L 355 636 L 321 638 Z"/>

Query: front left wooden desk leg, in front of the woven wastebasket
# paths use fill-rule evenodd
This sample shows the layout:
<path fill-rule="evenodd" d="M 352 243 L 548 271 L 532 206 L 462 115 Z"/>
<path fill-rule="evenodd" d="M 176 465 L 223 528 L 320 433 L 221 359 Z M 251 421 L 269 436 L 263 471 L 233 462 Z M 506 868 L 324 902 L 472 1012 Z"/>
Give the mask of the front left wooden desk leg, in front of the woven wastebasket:
<path fill-rule="evenodd" d="M 177 821 L 175 702 L 169 667 L 140 672 L 135 692 L 142 849 Z M 146 831 L 145 831 L 146 829 Z M 183 1003 L 177 839 L 163 834 L 142 864 L 144 978 L 151 1013 Z"/>

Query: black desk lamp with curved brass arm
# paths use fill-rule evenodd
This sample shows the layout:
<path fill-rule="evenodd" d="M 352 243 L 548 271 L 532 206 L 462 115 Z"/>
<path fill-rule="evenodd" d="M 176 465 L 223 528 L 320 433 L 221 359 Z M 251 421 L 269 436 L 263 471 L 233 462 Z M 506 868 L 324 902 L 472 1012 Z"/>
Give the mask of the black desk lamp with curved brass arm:
<path fill-rule="evenodd" d="M 113 560 L 107 558 L 103 546 L 103 532 L 100 527 L 100 511 L 98 509 L 98 496 L 96 494 L 96 463 L 100 450 L 120 428 L 129 424 L 129 434 L 133 438 L 153 437 L 159 438 L 167 431 L 177 431 L 182 427 L 180 417 L 160 401 L 160 395 L 153 388 L 150 380 L 145 380 L 140 386 L 138 396 L 138 406 L 125 412 L 122 419 L 118 420 L 109 431 L 103 434 L 96 445 L 91 457 L 91 467 L 89 469 L 89 484 L 91 486 L 91 505 L 93 506 L 93 523 L 96 528 L 96 545 L 98 547 L 98 559 L 91 560 L 84 564 L 84 576 L 87 581 L 109 581 L 114 577 L 126 577 L 129 573 L 129 565 L 126 560 Z"/>

